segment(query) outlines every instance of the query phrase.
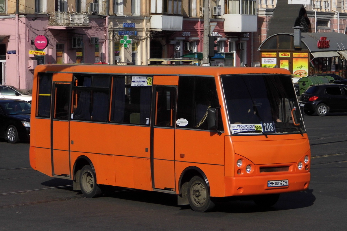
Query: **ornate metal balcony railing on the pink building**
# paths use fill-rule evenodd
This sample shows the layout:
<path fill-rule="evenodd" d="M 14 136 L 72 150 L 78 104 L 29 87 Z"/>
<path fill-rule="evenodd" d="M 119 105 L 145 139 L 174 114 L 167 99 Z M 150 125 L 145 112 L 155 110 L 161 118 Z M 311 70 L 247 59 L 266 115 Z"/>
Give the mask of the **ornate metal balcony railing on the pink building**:
<path fill-rule="evenodd" d="M 89 26 L 89 12 L 52 12 L 49 26 Z"/>

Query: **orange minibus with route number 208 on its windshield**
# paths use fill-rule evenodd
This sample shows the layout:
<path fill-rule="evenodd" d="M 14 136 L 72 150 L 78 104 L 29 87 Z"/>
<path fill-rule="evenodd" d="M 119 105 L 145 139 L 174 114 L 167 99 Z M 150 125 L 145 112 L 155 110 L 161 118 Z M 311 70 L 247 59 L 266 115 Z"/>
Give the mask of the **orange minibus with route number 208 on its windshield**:
<path fill-rule="evenodd" d="M 310 183 L 303 118 L 279 68 L 38 65 L 30 164 L 87 198 L 136 188 L 198 212 L 221 197 L 272 206 Z"/>

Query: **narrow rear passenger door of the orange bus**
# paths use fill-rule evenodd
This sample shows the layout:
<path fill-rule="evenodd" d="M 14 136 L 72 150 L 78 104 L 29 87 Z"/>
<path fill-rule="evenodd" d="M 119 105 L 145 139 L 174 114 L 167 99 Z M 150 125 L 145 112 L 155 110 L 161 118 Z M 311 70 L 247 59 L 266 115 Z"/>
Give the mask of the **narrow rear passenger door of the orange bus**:
<path fill-rule="evenodd" d="M 51 121 L 52 175 L 71 176 L 69 158 L 69 108 L 71 84 L 53 82 Z"/>

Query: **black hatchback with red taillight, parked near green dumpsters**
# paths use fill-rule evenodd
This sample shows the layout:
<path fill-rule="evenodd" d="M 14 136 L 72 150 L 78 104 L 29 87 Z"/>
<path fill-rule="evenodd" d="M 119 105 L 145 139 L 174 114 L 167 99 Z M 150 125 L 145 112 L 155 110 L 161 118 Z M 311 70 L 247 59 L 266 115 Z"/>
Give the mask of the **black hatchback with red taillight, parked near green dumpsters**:
<path fill-rule="evenodd" d="M 300 96 L 299 104 L 307 115 L 347 112 L 347 86 L 335 83 L 312 85 Z"/>

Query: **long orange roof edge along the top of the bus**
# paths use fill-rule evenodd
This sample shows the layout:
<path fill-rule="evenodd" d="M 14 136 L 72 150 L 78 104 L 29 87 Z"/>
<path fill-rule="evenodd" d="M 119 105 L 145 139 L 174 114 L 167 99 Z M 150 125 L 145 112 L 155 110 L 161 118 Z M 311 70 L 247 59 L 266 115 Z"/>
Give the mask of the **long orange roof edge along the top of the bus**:
<path fill-rule="evenodd" d="M 260 67 L 218 67 L 218 66 L 141 66 L 141 65 L 106 65 L 106 64 L 44 64 L 37 65 L 37 72 L 62 73 L 127 73 L 151 75 L 223 75 L 223 74 L 288 74 L 283 68 Z"/>

